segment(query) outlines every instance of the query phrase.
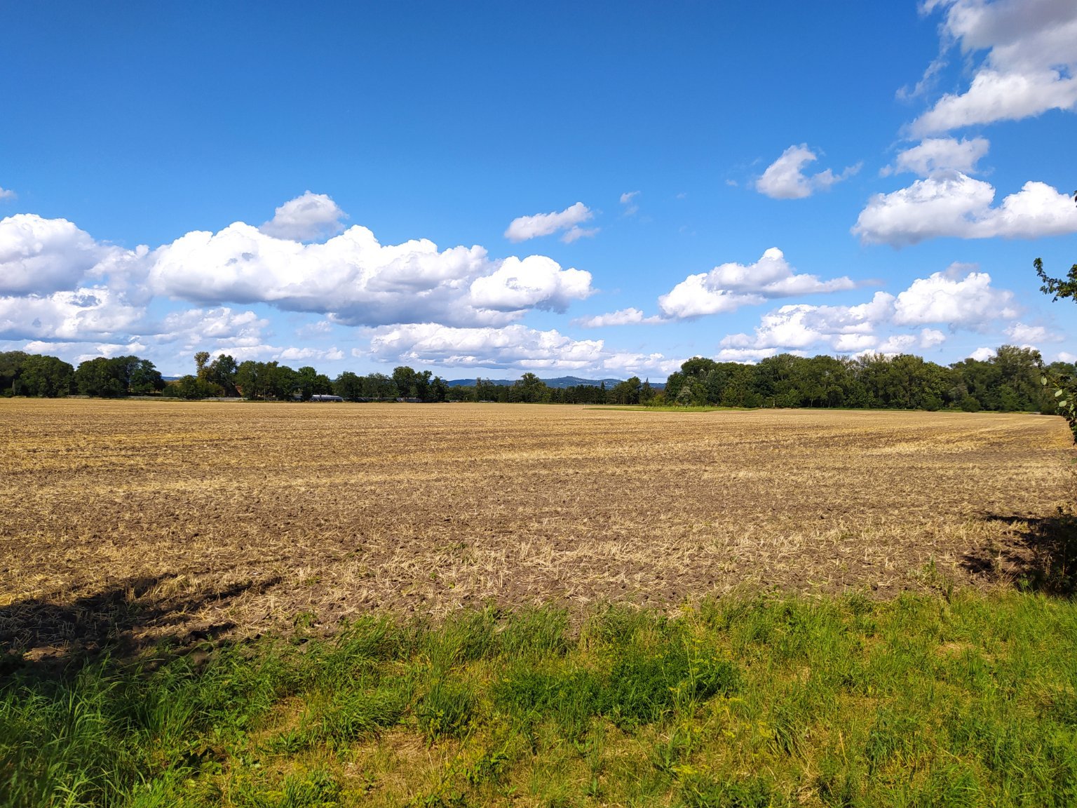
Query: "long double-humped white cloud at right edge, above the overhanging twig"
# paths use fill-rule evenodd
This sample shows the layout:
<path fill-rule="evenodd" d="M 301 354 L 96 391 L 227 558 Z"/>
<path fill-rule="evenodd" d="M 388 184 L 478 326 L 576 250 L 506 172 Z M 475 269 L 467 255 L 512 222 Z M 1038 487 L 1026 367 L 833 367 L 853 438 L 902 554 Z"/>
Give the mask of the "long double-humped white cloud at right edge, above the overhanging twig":
<path fill-rule="evenodd" d="M 1077 208 L 1043 182 L 1026 182 L 992 206 L 995 190 L 982 180 L 952 172 L 917 180 L 890 194 L 876 194 L 852 232 L 865 242 L 895 247 L 928 238 L 1039 238 L 1077 233 Z"/>

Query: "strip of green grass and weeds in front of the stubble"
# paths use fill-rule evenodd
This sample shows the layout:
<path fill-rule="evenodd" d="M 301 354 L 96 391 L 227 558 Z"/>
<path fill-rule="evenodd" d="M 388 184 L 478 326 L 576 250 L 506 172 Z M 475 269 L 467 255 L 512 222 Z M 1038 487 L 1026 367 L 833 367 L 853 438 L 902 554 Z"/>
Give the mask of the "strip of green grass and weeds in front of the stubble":
<path fill-rule="evenodd" d="M 0 685 L 11 806 L 1068 806 L 1077 604 L 492 609 Z"/>

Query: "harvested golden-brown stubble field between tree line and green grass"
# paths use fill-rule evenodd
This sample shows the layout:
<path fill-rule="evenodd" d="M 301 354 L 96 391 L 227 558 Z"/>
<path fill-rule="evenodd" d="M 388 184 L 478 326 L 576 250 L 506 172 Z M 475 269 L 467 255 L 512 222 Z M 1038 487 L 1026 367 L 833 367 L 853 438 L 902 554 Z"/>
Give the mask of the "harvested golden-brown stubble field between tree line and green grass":
<path fill-rule="evenodd" d="M 1009 585 L 1059 418 L 0 401 L 0 641 L 38 656 L 372 610 Z M 1039 565 L 1039 567 L 1037 567 Z"/>

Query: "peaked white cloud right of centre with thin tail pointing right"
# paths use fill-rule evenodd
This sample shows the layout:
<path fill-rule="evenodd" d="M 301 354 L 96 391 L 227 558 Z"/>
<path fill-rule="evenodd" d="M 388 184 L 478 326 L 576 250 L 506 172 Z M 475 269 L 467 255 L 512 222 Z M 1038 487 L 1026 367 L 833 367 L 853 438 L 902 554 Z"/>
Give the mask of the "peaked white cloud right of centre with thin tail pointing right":
<path fill-rule="evenodd" d="M 727 263 L 709 273 L 689 275 L 658 298 L 668 318 L 685 319 L 733 311 L 772 297 L 838 292 L 856 284 L 848 277 L 820 280 L 797 275 L 784 253 L 771 247 L 754 264 Z"/>

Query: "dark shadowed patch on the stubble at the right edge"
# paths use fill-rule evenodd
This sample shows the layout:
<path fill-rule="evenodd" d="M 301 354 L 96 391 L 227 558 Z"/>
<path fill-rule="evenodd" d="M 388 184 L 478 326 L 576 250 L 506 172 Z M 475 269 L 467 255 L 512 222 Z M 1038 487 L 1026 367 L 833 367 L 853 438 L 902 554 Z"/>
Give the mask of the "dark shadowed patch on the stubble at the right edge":
<path fill-rule="evenodd" d="M 966 570 L 1009 581 L 1022 590 L 1059 597 L 1077 594 L 1077 515 L 1060 510 L 1043 518 L 989 515 L 985 519 L 1013 527 L 1013 537 L 1001 548 L 967 554 Z"/>

